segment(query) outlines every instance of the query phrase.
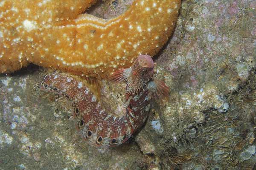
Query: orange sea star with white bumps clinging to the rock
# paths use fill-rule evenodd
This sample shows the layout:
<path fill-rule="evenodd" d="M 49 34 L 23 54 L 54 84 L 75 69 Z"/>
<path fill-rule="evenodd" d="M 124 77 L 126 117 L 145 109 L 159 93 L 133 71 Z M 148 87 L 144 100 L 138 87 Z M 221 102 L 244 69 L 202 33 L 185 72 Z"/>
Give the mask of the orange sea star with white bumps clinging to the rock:
<path fill-rule="evenodd" d="M 95 1 L 0 0 L 0 72 L 34 63 L 104 78 L 156 54 L 180 8 L 180 0 L 134 0 L 111 20 L 81 14 Z"/>

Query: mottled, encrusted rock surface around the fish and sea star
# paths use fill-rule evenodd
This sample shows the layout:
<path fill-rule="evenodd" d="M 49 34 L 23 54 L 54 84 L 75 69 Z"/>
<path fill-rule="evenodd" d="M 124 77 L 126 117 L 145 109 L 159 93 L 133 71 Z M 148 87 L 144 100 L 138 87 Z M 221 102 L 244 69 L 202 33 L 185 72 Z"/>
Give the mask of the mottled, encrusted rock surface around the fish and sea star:
<path fill-rule="evenodd" d="M 111 18 L 132 0 L 90 9 Z M 77 134 L 69 105 L 34 91 L 47 69 L 0 76 L 0 170 L 253 170 L 256 166 L 256 2 L 183 0 L 175 33 L 154 57 L 169 85 L 145 127 L 121 147 Z"/>

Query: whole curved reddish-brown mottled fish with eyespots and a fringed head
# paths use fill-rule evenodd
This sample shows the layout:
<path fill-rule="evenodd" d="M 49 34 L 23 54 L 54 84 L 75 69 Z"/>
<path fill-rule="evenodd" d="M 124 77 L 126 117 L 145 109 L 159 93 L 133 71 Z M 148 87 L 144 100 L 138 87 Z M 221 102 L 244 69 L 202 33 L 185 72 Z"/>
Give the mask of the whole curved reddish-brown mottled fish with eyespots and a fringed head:
<path fill-rule="evenodd" d="M 79 131 L 93 146 L 117 146 L 127 141 L 145 122 L 151 93 L 168 93 L 169 88 L 153 78 L 154 62 L 148 55 L 140 55 L 131 68 L 112 74 L 109 79 L 125 81 L 127 108 L 122 116 L 108 113 L 90 90 L 87 82 L 70 74 L 52 74 L 44 77 L 39 88 L 65 96 L 73 106 L 75 117 L 80 117 Z M 159 86 L 161 85 L 161 86 Z M 164 86 L 163 86 L 164 85 Z M 159 86 L 159 87 L 158 87 Z M 157 90 L 158 89 L 158 90 Z M 164 90 L 161 90 L 164 89 Z"/>

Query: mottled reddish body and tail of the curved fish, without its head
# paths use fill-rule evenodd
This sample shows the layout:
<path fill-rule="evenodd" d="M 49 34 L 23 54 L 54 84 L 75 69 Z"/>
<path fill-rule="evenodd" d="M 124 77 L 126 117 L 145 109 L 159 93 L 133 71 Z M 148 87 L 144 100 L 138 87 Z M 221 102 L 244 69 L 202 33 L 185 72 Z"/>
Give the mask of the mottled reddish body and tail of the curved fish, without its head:
<path fill-rule="evenodd" d="M 84 121 L 79 122 L 81 135 L 93 146 L 117 146 L 124 143 L 143 125 L 148 116 L 148 91 L 130 96 L 126 113 L 118 117 L 103 109 L 96 101 L 96 96 L 79 77 L 63 73 L 47 75 L 40 89 L 66 96 L 73 106 L 74 116 L 80 115 L 81 121 Z M 99 142 L 100 137 L 102 140 Z"/>

